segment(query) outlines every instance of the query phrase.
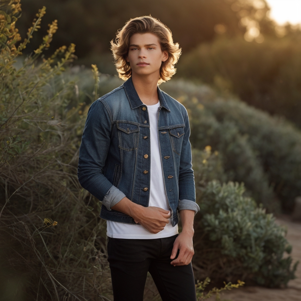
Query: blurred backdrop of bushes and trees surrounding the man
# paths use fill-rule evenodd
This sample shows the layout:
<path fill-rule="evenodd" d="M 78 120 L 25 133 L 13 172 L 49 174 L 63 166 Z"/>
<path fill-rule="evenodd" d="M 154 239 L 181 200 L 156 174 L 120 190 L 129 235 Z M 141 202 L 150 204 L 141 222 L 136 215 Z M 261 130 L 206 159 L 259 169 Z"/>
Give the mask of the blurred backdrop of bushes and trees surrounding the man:
<path fill-rule="evenodd" d="M 123 83 L 110 40 L 142 15 L 182 47 L 160 88 L 190 120 L 198 300 L 206 277 L 208 289 L 242 280 L 298 300 L 301 17 L 292 3 L 22 0 L 21 14 L 19 0 L 1 1 L 1 300 L 113 299 L 101 202 L 78 183 L 78 149 L 90 104 Z M 257 297 L 239 300 L 269 298 Z M 150 276 L 145 300 L 160 300 Z"/>

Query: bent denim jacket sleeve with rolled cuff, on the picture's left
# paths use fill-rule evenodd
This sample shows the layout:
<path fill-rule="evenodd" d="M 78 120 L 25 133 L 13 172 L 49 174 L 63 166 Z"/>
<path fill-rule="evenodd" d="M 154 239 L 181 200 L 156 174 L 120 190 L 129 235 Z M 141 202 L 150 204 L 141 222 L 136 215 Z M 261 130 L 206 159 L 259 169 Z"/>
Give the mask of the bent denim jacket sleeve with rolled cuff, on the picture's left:
<path fill-rule="evenodd" d="M 77 175 L 82 187 L 102 201 L 108 210 L 125 197 L 103 175 L 111 133 L 110 112 L 100 100 L 96 100 L 89 108 L 82 134 Z"/>

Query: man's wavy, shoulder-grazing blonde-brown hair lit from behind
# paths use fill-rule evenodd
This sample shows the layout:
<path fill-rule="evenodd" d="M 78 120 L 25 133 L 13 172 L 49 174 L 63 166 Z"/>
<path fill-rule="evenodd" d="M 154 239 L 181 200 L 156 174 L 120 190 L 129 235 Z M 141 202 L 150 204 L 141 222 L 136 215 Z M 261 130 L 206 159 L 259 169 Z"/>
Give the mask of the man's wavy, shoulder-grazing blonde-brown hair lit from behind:
<path fill-rule="evenodd" d="M 175 64 L 181 55 L 181 48 L 178 43 L 173 42 L 170 29 L 151 16 L 130 19 L 117 32 L 116 38 L 111 41 L 111 50 L 119 77 L 123 80 L 131 77 L 132 70 L 126 58 L 129 53 L 129 39 L 136 33 L 151 33 L 157 36 L 161 50 L 168 52 L 168 59 L 161 64 L 158 84 L 160 85 L 162 82 L 170 80 L 177 71 Z"/>

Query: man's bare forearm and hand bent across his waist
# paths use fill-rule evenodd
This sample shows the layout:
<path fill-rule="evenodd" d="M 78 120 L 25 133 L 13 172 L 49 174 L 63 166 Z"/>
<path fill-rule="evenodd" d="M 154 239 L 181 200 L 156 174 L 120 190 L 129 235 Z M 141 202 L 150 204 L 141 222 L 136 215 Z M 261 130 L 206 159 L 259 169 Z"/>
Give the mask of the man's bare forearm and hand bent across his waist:
<path fill-rule="evenodd" d="M 111 209 L 128 214 L 131 216 L 135 223 L 139 223 L 150 233 L 158 233 L 164 229 L 166 224 L 169 223 L 170 211 L 164 210 L 159 207 L 143 207 L 138 205 L 128 198 L 123 198 Z"/>

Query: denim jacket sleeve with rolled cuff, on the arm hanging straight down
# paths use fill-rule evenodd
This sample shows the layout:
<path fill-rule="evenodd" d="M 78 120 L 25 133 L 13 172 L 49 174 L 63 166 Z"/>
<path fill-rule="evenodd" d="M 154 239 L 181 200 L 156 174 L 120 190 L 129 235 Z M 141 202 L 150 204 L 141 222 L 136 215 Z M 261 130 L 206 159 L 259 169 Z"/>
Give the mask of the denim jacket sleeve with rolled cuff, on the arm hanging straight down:
<path fill-rule="evenodd" d="M 189 142 L 190 128 L 186 109 L 185 110 L 185 135 L 182 141 L 182 150 L 179 168 L 179 204 L 178 210 L 194 210 L 195 214 L 200 210 L 195 201 L 195 183 L 192 169 L 191 145 Z"/>

